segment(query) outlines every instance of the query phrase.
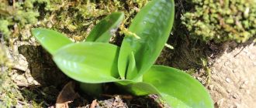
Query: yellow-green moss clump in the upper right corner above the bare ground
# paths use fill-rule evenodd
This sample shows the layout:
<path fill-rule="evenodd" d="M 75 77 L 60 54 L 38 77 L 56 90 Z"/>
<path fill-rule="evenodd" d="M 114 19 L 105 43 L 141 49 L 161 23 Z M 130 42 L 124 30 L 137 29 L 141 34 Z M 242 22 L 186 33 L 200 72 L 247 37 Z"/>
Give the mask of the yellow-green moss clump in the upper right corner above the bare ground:
<path fill-rule="evenodd" d="M 192 0 L 182 21 L 195 39 L 246 42 L 256 35 L 256 1 Z"/>

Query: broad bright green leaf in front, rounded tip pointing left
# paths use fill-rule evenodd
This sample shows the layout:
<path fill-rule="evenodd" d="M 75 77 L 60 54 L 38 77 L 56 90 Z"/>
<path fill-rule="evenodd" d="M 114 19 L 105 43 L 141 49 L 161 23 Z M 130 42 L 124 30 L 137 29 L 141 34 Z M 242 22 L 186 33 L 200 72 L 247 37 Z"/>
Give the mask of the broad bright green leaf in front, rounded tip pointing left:
<path fill-rule="evenodd" d="M 119 48 L 103 42 L 73 43 L 54 54 L 54 62 L 67 76 L 82 83 L 117 81 Z"/>

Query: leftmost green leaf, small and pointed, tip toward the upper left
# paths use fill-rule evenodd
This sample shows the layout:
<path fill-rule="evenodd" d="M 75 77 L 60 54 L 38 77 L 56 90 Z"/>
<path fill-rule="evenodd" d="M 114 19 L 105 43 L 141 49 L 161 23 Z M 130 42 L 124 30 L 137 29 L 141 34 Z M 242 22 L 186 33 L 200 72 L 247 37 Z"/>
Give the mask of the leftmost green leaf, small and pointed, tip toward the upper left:
<path fill-rule="evenodd" d="M 51 55 L 54 55 L 57 49 L 72 43 L 67 36 L 51 29 L 33 29 L 32 34 Z"/>

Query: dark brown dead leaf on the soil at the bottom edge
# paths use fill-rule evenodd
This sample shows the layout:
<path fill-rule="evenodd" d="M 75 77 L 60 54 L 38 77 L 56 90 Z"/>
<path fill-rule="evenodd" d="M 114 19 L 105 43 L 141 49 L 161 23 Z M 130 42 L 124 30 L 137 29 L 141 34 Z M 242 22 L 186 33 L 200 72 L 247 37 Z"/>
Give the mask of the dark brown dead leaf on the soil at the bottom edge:
<path fill-rule="evenodd" d="M 78 97 L 78 93 L 74 92 L 74 81 L 67 83 L 57 96 L 56 108 L 68 108 L 68 103 L 73 102 Z"/>

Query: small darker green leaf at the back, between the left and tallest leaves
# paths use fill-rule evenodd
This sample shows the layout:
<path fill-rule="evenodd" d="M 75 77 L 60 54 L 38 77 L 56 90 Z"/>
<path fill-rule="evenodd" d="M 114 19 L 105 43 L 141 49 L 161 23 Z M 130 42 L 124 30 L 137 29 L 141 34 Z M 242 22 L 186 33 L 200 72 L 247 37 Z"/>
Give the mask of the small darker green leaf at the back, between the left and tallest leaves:
<path fill-rule="evenodd" d="M 92 32 L 88 35 L 86 42 L 109 42 L 113 33 L 123 21 L 123 12 L 114 12 L 111 15 L 106 16 L 102 19 L 95 27 Z"/>

